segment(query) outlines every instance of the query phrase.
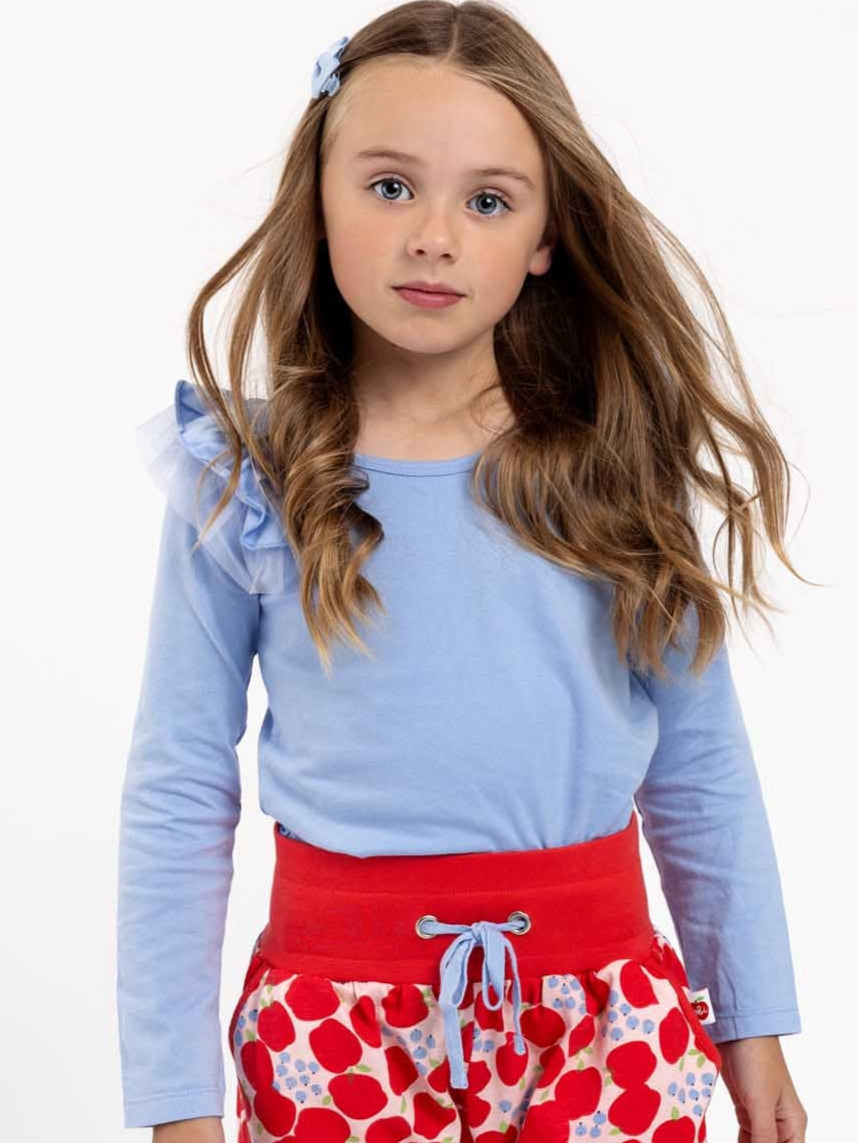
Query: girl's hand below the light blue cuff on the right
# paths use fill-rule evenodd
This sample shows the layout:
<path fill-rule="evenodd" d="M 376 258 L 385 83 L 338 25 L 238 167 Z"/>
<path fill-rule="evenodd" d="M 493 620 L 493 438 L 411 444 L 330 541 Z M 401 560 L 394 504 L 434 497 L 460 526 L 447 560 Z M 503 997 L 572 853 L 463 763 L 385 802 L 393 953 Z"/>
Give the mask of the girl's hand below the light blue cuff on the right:
<path fill-rule="evenodd" d="M 804 1143 L 808 1113 L 799 1102 L 777 1036 L 722 1040 L 721 1076 L 736 1105 L 738 1143 Z"/>

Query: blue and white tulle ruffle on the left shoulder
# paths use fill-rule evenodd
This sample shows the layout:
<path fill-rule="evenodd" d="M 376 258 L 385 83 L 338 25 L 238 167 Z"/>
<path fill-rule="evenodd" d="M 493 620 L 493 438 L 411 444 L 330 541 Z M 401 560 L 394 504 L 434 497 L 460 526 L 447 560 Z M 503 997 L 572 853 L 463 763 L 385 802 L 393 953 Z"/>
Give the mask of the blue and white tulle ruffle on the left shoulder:
<path fill-rule="evenodd" d="M 248 400 L 251 409 L 262 403 L 260 398 Z M 169 505 L 201 531 L 223 494 L 231 465 L 227 453 L 206 470 L 226 448 L 226 438 L 197 387 L 178 381 L 173 403 L 138 424 L 135 433 L 143 463 Z M 248 592 L 283 591 L 294 576 L 280 513 L 265 494 L 247 449 L 235 491 L 202 545 Z"/>

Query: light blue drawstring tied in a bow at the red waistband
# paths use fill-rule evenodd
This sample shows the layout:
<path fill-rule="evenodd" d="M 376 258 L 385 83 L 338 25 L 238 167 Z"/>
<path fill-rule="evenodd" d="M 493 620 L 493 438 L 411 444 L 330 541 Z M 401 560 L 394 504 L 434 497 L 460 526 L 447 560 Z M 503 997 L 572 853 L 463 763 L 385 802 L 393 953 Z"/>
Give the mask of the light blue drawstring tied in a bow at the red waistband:
<path fill-rule="evenodd" d="M 441 993 L 439 1005 L 444 1018 L 444 1036 L 447 1054 L 450 1058 L 450 1086 L 467 1087 L 465 1076 L 465 1057 L 462 1047 L 462 1029 L 459 1026 L 458 1007 L 467 986 L 467 962 L 478 945 L 484 950 L 482 964 L 482 997 L 487 1008 L 497 1012 L 504 1002 L 504 969 L 506 952 L 513 966 L 513 1023 L 515 1025 L 515 1052 L 522 1056 L 527 1052 L 524 1037 L 521 1034 L 521 982 L 515 951 L 503 930 L 518 932 L 518 921 L 474 921 L 473 925 L 447 925 L 443 921 L 424 919 L 422 929 L 425 933 L 458 933 L 441 958 Z M 489 1002 L 489 984 L 495 989 L 497 1004 Z"/>

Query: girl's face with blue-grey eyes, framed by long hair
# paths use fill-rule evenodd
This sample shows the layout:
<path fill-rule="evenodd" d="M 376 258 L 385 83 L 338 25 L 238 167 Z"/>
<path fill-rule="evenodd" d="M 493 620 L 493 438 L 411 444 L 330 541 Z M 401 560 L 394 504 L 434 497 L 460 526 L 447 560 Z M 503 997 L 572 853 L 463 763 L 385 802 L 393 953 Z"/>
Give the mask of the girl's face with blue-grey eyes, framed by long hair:
<path fill-rule="evenodd" d="M 392 345 L 463 349 L 507 313 L 528 273 L 550 266 L 536 137 L 505 96 L 441 65 L 371 61 L 332 98 L 343 95 L 321 173 L 337 287 Z M 414 305 L 394 288 L 414 279 L 464 297 Z"/>

